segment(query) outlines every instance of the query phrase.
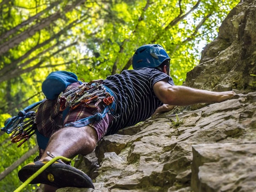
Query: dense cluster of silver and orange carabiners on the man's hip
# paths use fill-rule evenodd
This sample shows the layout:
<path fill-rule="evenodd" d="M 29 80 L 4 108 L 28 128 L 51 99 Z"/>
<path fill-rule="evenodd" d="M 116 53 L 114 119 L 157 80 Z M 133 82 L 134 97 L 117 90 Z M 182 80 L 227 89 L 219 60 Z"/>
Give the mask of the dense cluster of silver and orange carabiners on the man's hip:
<path fill-rule="evenodd" d="M 106 92 L 106 88 L 102 83 L 103 79 L 93 80 L 84 82 L 65 93 L 61 92 L 58 97 L 59 110 L 64 111 L 66 107 L 70 107 L 73 110 L 80 105 L 97 108 L 101 102 L 105 105 L 110 105 L 114 101 L 114 97 Z"/>

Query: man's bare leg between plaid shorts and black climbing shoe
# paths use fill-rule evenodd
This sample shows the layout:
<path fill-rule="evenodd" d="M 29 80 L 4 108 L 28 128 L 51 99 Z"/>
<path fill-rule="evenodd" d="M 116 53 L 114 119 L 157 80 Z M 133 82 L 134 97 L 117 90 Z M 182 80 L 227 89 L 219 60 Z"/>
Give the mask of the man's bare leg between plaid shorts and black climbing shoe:
<path fill-rule="evenodd" d="M 65 127 L 55 132 L 49 140 L 46 152 L 54 156 L 74 158 L 78 154 L 87 155 L 97 145 L 98 135 L 91 126 Z M 44 153 L 39 161 L 49 161 L 52 158 Z"/>

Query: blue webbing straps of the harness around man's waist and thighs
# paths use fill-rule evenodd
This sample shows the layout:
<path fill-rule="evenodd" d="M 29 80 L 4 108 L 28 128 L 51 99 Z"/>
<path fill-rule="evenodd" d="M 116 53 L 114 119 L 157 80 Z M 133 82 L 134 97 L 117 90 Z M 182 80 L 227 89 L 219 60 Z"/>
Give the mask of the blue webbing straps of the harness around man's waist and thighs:
<path fill-rule="evenodd" d="M 106 87 L 105 85 L 103 85 L 105 88 L 106 88 L 106 92 L 109 92 L 111 96 L 114 96 L 113 92 L 108 88 Z M 67 109 L 66 109 L 67 110 Z M 63 116 L 68 113 L 69 110 L 67 111 L 63 111 Z M 76 122 L 72 122 L 72 123 L 69 123 L 69 124 L 65 124 L 64 127 L 84 127 L 84 126 L 87 126 L 88 124 L 94 122 L 94 121 L 100 121 L 102 118 L 104 118 L 107 114 L 107 112 L 111 112 L 112 114 L 115 113 L 116 111 L 116 103 L 115 103 L 115 100 L 114 102 L 112 102 L 111 106 L 106 106 L 104 108 L 104 110 L 101 112 L 101 113 L 95 113 L 94 115 L 90 116 L 90 117 L 86 117 L 84 119 L 80 119 L 79 121 L 76 121 Z M 65 118 L 64 116 L 64 118 Z M 63 118 L 63 119 L 64 119 Z M 38 143 L 38 146 L 41 148 L 41 149 L 46 149 L 47 147 L 47 144 L 49 142 L 49 138 L 48 137 L 45 137 L 44 135 L 40 134 L 38 132 L 38 130 L 36 130 L 36 137 L 37 137 L 37 143 Z"/>

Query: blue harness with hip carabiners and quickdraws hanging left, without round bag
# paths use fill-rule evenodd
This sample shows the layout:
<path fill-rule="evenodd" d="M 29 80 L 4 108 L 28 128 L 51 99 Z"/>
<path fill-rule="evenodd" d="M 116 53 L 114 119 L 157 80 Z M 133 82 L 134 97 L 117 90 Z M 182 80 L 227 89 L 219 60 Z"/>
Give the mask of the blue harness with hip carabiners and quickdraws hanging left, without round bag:
<path fill-rule="evenodd" d="M 112 91 L 103 85 L 103 79 L 83 83 L 81 82 L 80 84 L 81 85 L 78 87 L 68 90 L 65 93 L 60 92 L 58 96 L 57 102 L 60 104 L 59 110 L 63 112 L 63 120 L 69 110 L 74 110 L 79 105 L 84 105 L 88 108 L 98 108 L 100 103 L 103 103 L 106 107 L 101 113 L 95 113 L 94 116 L 66 124 L 65 127 L 86 126 L 94 121 L 100 121 L 100 119 L 106 116 L 106 113 L 114 114 L 116 107 L 114 96 Z M 44 100 L 33 103 L 24 110 L 18 112 L 17 116 L 11 117 L 5 121 L 5 127 L 1 128 L 1 130 L 8 134 L 12 133 L 12 143 L 21 141 L 17 147 L 20 147 L 23 143 L 30 139 L 33 134 L 36 133 L 39 147 L 41 149 L 46 149 L 49 138 L 38 132 L 36 126 L 36 112 L 31 111 Z"/>

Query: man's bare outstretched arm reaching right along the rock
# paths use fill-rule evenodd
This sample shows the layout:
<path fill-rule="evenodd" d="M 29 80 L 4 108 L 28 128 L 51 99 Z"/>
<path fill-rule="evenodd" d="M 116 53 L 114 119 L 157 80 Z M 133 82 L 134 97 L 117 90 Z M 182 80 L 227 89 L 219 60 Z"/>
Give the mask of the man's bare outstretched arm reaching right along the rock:
<path fill-rule="evenodd" d="M 236 95 L 234 91 L 214 92 L 185 86 L 172 86 L 167 83 L 167 80 L 156 82 L 153 89 L 162 103 L 178 106 L 222 102 Z"/>

